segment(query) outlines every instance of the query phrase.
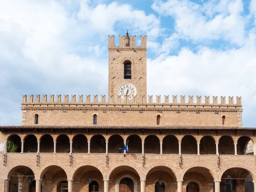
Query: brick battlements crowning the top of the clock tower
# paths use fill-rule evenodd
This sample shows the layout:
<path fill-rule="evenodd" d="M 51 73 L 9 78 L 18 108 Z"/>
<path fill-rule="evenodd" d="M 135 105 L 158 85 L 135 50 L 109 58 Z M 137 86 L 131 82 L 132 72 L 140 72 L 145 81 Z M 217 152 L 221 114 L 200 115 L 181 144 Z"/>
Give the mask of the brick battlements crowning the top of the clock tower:
<path fill-rule="evenodd" d="M 136 46 L 136 35 L 130 35 L 130 46 L 125 45 L 125 35 L 119 35 L 119 46 L 115 46 L 115 36 L 108 35 L 108 48 L 146 48 L 147 47 L 147 35 L 140 35 L 141 46 Z"/>

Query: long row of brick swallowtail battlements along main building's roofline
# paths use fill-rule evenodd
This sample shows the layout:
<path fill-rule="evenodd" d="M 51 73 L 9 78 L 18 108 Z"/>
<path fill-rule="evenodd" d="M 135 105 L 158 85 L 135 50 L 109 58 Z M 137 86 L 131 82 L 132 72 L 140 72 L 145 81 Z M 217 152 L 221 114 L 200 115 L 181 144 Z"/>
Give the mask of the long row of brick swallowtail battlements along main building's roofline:
<path fill-rule="evenodd" d="M 76 95 L 71 95 L 71 99 L 69 99 L 68 95 L 64 95 L 63 99 L 61 95 L 49 95 L 49 99 L 47 99 L 47 95 L 42 95 L 42 99 L 40 95 L 29 95 L 22 96 L 22 105 L 28 104 L 75 104 L 75 105 L 105 105 L 105 104 L 134 104 L 134 105 L 198 105 L 198 106 L 240 106 L 241 107 L 241 97 L 236 97 L 236 104 L 234 103 L 234 97 L 229 96 L 228 102 L 226 102 L 226 97 L 221 96 L 221 102 L 218 102 L 218 97 L 213 96 L 212 102 L 210 101 L 209 96 L 204 97 L 204 103 L 202 102 L 202 96 L 196 97 L 196 102 L 194 102 L 194 96 L 180 96 L 180 101 L 178 102 L 177 96 L 172 96 L 172 100 L 170 96 L 164 96 L 164 102 L 161 102 L 161 96 L 156 96 L 156 102 L 153 101 L 153 96 L 133 96 L 131 100 L 129 98 L 121 99 L 121 96 L 108 96 L 108 102 L 106 102 L 106 97 L 101 96 L 99 99 L 98 96 L 93 95 L 92 99 L 90 95 L 79 95 L 78 99 Z M 187 102 L 188 101 L 188 102 Z"/>

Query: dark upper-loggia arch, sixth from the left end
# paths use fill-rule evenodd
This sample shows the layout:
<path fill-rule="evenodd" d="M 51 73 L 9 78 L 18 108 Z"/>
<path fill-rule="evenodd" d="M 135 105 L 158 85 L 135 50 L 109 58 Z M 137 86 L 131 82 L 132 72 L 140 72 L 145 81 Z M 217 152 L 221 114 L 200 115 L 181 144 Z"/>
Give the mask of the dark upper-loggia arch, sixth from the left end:
<path fill-rule="evenodd" d="M 102 135 L 94 135 L 90 140 L 90 153 L 105 153 L 106 140 Z"/>

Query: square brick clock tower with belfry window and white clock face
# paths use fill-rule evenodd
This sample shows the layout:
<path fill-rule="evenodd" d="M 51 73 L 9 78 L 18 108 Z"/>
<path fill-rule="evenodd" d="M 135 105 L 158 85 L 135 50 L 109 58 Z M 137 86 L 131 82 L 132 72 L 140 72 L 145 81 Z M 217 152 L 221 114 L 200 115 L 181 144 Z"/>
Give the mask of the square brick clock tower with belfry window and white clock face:
<path fill-rule="evenodd" d="M 114 44 L 114 35 L 108 36 L 109 70 L 108 95 L 147 95 L 147 36 L 140 36 L 141 46 L 136 46 L 136 36 L 119 35 L 119 46 Z"/>

